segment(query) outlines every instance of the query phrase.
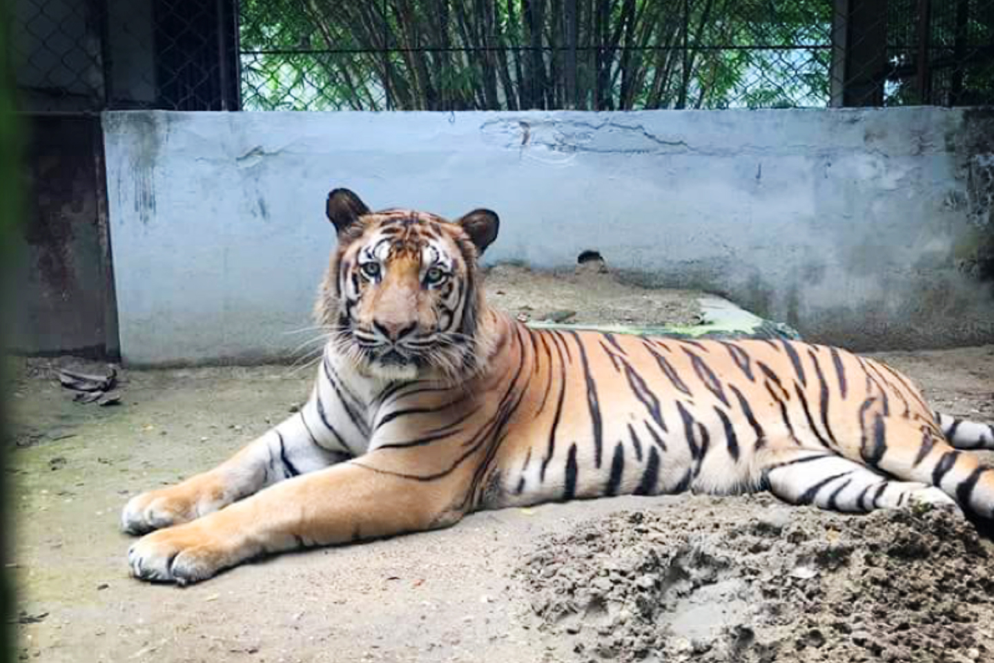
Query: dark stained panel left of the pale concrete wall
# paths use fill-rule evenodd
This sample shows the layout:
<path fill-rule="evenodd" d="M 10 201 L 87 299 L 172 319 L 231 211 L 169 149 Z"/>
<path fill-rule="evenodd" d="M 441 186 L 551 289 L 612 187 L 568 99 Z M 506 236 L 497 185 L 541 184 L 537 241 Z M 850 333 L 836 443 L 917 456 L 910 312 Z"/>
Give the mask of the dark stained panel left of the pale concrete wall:
<path fill-rule="evenodd" d="M 117 353 L 101 229 L 99 118 L 35 115 L 24 174 L 24 246 L 15 265 L 11 349 L 39 355 Z"/>

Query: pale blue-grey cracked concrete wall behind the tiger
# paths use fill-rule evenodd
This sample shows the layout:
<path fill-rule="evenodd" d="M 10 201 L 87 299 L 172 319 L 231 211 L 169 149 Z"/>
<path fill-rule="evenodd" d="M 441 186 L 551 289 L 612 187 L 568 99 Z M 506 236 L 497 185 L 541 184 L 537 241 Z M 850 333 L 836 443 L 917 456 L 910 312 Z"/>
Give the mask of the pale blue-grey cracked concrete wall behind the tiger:
<path fill-rule="evenodd" d="M 856 349 L 994 341 L 994 112 L 107 113 L 121 348 L 305 338 L 332 187 L 502 219 L 489 261 L 725 294 Z"/>

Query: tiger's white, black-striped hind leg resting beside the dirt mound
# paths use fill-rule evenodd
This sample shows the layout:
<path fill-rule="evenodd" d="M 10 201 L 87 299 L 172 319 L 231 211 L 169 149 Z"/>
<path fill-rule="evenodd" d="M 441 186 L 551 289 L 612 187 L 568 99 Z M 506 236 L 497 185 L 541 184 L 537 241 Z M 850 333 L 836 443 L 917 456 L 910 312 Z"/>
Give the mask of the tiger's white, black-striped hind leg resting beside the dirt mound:
<path fill-rule="evenodd" d="M 914 504 L 955 507 L 926 483 L 897 481 L 832 452 L 796 450 L 775 457 L 763 470 L 769 491 L 790 504 L 830 511 L 867 513 Z"/>

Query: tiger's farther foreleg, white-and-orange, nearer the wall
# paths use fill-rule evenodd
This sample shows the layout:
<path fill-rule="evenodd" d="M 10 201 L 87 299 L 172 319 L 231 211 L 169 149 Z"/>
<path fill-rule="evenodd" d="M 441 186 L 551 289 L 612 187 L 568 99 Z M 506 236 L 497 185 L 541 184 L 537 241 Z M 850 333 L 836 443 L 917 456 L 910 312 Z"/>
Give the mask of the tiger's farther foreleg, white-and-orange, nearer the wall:
<path fill-rule="evenodd" d="M 121 514 L 121 528 L 144 534 L 186 523 L 277 481 L 347 458 L 317 444 L 305 412 L 287 418 L 212 470 L 132 498 Z"/>

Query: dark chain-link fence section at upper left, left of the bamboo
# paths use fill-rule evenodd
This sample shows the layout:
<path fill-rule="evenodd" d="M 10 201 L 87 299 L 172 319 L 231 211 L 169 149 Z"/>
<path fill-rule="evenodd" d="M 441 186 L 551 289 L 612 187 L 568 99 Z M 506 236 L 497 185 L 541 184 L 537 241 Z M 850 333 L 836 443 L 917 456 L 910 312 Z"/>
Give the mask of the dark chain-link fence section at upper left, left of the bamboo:
<path fill-rule="evenodd" d="M 239 107 L 235 0 L 14 0 L 20 105 Z"/>

